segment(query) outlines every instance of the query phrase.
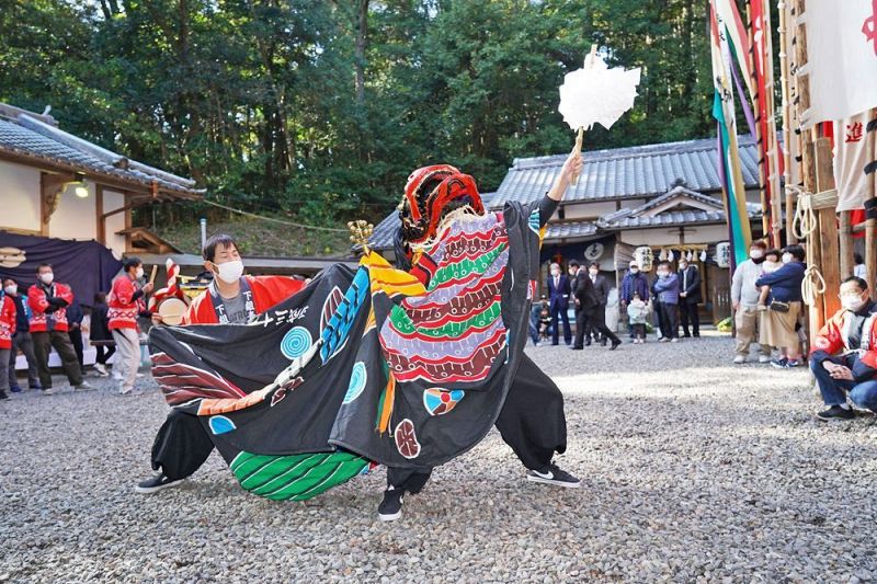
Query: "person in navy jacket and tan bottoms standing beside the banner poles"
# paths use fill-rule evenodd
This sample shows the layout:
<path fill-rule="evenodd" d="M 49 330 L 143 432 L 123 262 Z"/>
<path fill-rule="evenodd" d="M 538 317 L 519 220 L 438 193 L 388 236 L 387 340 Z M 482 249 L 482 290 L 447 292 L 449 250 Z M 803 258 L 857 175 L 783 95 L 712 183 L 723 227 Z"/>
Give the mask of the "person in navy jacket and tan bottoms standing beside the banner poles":
<path fill-rule="evenodd" d="M 800 365 L 800 340 L 796 325 L 802 302 L 804 259 L 804 248 L 788 245 L 783 249 L 783 267 L 755 280 L 759 288 L 771 287 L 771 310 L 761 313 L 759 342 L 779 350 L 779 357 L 771 362 L 779 369 Z"/>

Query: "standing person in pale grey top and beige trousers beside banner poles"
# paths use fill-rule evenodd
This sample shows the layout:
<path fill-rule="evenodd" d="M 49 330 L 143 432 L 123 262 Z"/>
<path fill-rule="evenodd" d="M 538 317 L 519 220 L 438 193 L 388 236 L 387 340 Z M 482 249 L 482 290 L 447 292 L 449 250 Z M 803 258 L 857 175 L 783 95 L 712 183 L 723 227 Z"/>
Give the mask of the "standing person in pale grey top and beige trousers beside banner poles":
<path fill-rule="evenodd" d="M 759 288 L 755 282 L 762 274 L 761 264 L 767 245 L 763 241 L 753 241 L 749 248 L 749 260 L 740 262 L 731 278 L 731 305 L 733 307 L 737 346 L 733 357 L 736 364 L 745 363 L 749 346 L 755 339 L 759 323 Z M 759 363 L 771 362 L 771 347 L 761 345 Z"/>

